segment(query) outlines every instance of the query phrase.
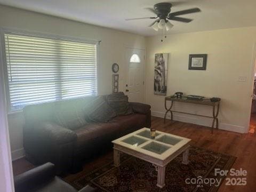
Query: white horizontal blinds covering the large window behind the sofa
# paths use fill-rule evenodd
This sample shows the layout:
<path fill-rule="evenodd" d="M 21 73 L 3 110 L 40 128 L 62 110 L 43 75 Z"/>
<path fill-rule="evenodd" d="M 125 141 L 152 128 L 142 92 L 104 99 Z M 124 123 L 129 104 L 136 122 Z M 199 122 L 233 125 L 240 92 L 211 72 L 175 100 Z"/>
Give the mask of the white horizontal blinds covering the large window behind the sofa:
<path fill-rule="evenodd" d="M 5 34 L 11 110 L 97 94 L 97 45 Z"/>

